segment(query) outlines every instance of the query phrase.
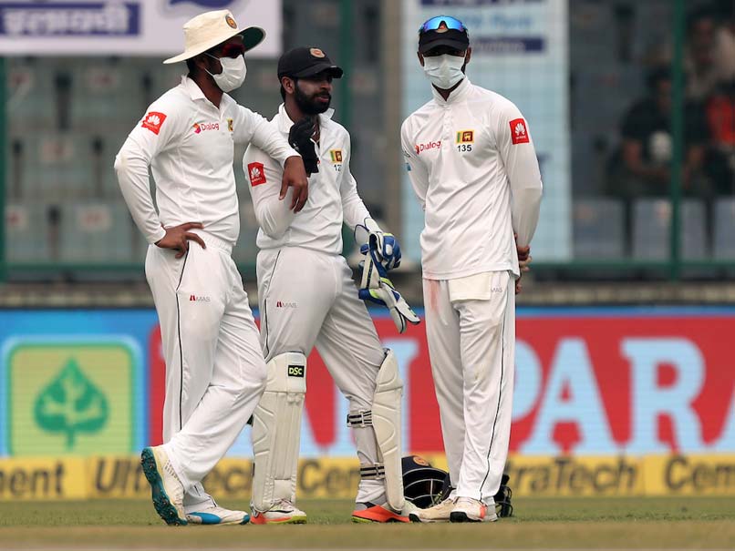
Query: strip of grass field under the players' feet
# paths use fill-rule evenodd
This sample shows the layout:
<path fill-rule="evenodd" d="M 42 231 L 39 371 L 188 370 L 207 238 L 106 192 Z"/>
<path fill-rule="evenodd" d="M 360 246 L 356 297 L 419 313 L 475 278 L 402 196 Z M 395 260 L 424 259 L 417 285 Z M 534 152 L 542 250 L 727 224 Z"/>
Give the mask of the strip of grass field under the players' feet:
<path fill-rule="evenodd" d="M 735 547 L 735 500 L 728 498 L 519 498 L 515 517 L 484 525 L 355 525 L 349 501 L 299 505 L 308 525 L 169 527 L 149 502 L 0 503 L 0 549 Z"/>

